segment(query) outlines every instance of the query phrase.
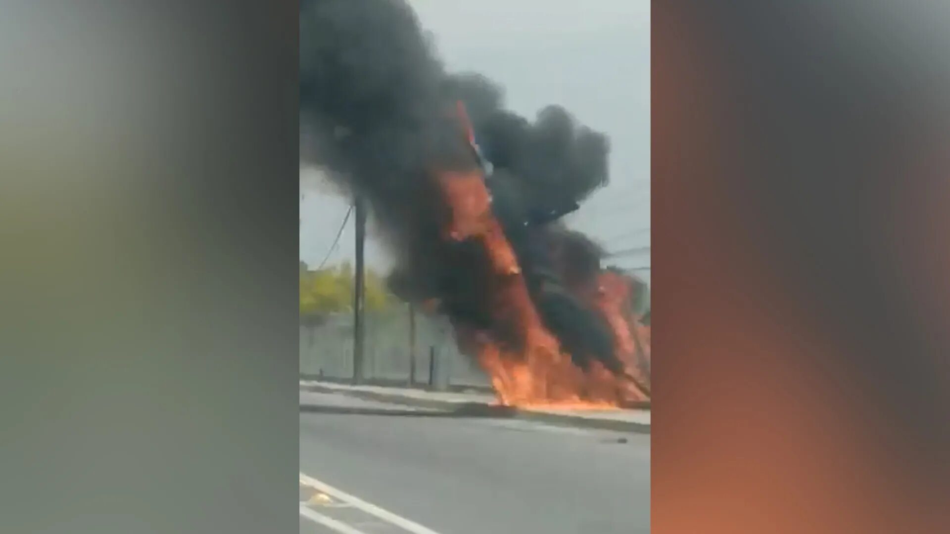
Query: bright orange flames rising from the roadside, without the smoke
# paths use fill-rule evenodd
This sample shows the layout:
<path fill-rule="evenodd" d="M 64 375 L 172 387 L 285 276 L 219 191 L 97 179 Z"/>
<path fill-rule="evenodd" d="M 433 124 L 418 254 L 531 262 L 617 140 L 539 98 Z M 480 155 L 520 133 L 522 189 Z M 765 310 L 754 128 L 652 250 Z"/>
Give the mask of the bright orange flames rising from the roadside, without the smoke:
<path fill-rule="evenodd" d="M 445 238 L 474 239 L 482 243 L 492 270 L 491 310 L 499 322 L 521 334 L 518 350 L 505 348 L 484 333 L 457 334 L 460 342 L 473 347 L 491 379 L 499 403 L 505 406 L 569 409 L 616 409 L 644 401 L 647 396 L 632 380 L 619 378 L 599 362 L 583 372 L 561 351 L 558 338 L 543 325 L 522 276 L 518 259 L 501 223 L 490 207 L 482 174 L 445 172 L 437 174 L 438 185 L 450 208 Z M 618 356 L 628 372 L 637 372 L 637 321 L 623 313 L 622 303 L 630 287 L 622 277 L 601 275 L 593 304 L 605 315 L 614 332 Z M 642 336 L 640 336 L 642 337 Z M 647 337 L 647 339 L 649 339 Z"/>

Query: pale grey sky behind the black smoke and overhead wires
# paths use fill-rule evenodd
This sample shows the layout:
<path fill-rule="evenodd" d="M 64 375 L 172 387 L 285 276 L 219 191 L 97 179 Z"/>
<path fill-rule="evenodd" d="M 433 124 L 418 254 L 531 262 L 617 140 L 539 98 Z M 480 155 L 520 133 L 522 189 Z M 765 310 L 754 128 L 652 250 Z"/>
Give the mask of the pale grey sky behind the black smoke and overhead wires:
<path fill-rule="evenodd" d="M 650 244 L 650 3 L 646 0 L 410 0 L 449 70 L 475 70 L 505 88 L 507 107 L 533 118 L 558 104 L 611 140 L 611 183 L 568 223 L 610 251 Z M 313 183 L 301 170 L 302 182 Z M 300 257 L 326 255 L 347 211 L 331 192 L 300 205 Z M 328 263 L 352 258 L 352 224 Z M 368 261 L 386 269 L 368 244 Z M 650 265 L 649 250 L 614 258 Z M 649 271 L 637 271 L 649 279 Z"/>

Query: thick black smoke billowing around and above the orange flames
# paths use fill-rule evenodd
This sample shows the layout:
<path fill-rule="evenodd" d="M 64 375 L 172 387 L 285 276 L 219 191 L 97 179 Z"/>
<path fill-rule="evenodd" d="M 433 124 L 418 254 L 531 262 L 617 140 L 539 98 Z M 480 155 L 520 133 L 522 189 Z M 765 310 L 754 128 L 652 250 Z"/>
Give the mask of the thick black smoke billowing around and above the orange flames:
<path fill-rule="evenodd" d="M 301 1 L 301 154 L 370 201 L 397 256 L 393 291 L 437 298 L 455 324 L 519 342 L 490 313 L 484 252 L 440 238 L 446 207 L 429 172 L 475 163 L 454 115 L 462 100 L 545 326 L 581 367 L 596 358 L 618 372 L 607 325 L 571 291 L 597 274 L 602 253 L 556 222 L 607 182 L 607 138 L 558 106 L 529 122 L 503 96 L 483 76 L 447 74 L 402 0 Z"/>

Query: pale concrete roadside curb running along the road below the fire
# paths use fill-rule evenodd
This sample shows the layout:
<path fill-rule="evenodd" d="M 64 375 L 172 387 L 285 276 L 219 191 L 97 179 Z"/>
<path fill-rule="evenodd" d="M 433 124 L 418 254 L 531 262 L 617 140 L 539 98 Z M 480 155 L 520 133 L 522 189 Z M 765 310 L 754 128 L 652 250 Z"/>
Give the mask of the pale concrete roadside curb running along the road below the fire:
<path fill-rule="evenodd" d="M 580 427 L 586 429 L 616 430 L 621 432 L 650 433 L 650 424 L 636 421 L 623 421 L 589 417 L 569 413 L 554 413 L 549 411 L 518 410 L 505 407 L 495 407 L 488 403 L 459 402 L 450 400 L 425 399 L 416 396 L 400 394 L 398 392 L 347 390 L 339 387 L 329 387 L 319 384 L 301 384 L 300 391 L 314 391 L 318 393 L 340 393 L 362 400 L 400 404 L 414 408 L 430 410 L 459 411 L 460 414 L 479 414 L 484 417 L 513 418 L 525 421 L 537 421 L 550 425 Z M 302 407 L 301 407 L 302 408 Z"/>

